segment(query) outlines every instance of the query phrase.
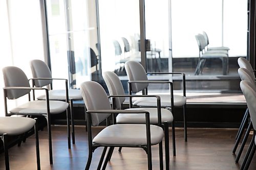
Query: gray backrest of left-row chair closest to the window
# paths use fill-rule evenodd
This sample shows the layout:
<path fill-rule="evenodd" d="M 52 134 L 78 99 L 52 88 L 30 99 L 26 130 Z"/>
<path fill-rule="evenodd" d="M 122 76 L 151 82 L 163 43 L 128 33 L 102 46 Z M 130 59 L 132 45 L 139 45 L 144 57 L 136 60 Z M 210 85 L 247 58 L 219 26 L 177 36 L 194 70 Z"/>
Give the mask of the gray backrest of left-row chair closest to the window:
<path fill-rule="evenodd" d="M 30 67 L 33 78 L 52 78 L 51 70 L 44 61 L 31 60 Z M 51 83 L 52 80 L 35 80 L 36 87 L 43 87 Z"/>

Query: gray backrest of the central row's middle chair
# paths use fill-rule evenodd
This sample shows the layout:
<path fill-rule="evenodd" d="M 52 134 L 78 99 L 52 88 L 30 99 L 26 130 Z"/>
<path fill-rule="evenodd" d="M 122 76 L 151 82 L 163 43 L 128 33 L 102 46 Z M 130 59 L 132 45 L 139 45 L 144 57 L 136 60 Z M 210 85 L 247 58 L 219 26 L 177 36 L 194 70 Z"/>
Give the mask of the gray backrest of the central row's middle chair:
<path fill-rule="evenodd" d="M 111 71 L 103 72 L 103 79 L 108 87 L 110 95 L 124 95 L 124 89 L 119 77 Z M 122 103 L 125 101 L 125 98 L 115 98 L 115 104 L 117 109 L 121 109 Z"/>

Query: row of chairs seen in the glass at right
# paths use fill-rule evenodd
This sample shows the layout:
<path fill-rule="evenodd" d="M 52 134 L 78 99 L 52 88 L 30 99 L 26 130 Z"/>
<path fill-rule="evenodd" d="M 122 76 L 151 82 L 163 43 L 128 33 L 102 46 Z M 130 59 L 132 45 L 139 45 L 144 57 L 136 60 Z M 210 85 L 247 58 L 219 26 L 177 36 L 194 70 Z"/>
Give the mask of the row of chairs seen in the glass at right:
<path fill-rule="evenodd" d="M 225 46 L 208 47 L 209 38 L 205 32 L 203 32 L 203 34 L 197 34 L 195 37 L 199 47 L 199 59 L 198 59 L 198 64 L 195 70 L 195 75 L 201 74 L 203 71 L 203 67 L 205 65 L 206 59 L 212 59 L 212 58 L 221 59 L 223 75 L 227 75 L 229 47 L 225 47 Z"/>

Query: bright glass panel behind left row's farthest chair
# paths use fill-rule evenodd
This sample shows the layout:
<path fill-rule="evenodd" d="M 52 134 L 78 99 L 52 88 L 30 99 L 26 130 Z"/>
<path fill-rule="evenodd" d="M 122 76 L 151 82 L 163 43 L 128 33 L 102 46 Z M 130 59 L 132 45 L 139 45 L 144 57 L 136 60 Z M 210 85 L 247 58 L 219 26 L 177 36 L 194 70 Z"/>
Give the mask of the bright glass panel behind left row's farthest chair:
<path fill-rule="evenodd" d="M 48 0 L 50 55 L 53 78 L 69 79 L 71 88 L 91 80 L 86 1 Z M 65 88 L 63 82 L 54 88 Z M 56 85 L 56 87 L 55 87 Z"/>

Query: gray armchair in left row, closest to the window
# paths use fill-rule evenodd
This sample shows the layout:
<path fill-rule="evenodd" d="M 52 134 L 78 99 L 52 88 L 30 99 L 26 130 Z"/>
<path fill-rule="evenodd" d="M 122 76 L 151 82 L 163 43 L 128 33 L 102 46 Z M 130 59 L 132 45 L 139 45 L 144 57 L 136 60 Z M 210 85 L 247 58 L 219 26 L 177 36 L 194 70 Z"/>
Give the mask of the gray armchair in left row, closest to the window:
<path fill-rule="evenodd" d="M 53 79 L 51 70 L 48 65 L 41 60 L 31 60 L 30 66 L 33 75 L 33 86 L 35 87 L 44 87 L 50 85 L 53 80 L 62 80 L 66 83 L 65 90 L 49 90 L 49 100 L 55 101 L 66 101 L 70 104 L 71 110 L 71 126 L 72 126 L 72 141 L 75 143 L 75 127 L 74 127 L 74 109 L 73 101 L 82 100 L 82 94 L 79 89 L 68 89 L 68 80 L 67 79 Z M 52 87 L 52 86 L 51 86 Z M 68 94 L 68 95 L 67 95 Z M 34 97 L 34 95 L 33 95 Z M 37 100 L 46 100 L 46 95 L 38 96 Z M 68 114 L 68 113 L 67 113 Z M 69 148 L 71 144 L 69 142 Z"/>

